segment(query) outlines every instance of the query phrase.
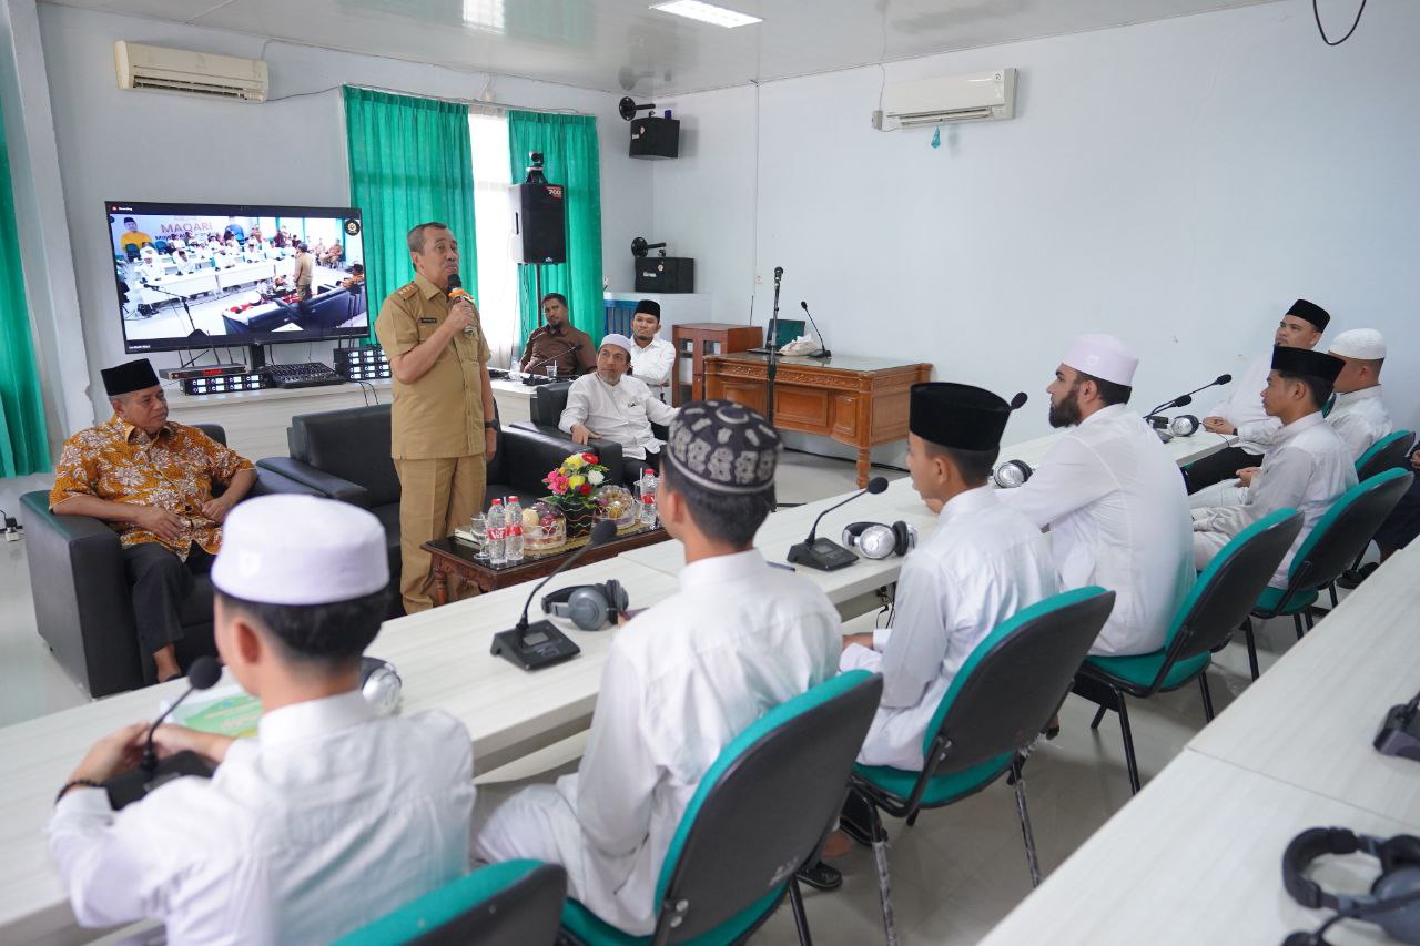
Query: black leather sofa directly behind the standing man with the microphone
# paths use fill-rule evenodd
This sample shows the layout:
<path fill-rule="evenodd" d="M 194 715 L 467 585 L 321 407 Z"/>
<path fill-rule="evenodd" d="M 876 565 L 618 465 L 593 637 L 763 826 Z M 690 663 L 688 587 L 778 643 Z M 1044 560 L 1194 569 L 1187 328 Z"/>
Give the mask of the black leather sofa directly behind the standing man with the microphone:
<path fill-rule="evenodd" d="M 257 466 L 322 496 L 368 509 L 379 518 L 385 527 L 390 587 L 396 592 L 390 595 L 390 616 L 396 616 L 403 614 L 398 594 L 399 476 L 389 457 L 389 430 L 388 403 L 297 415 L 285 432 L 291 456 L 267 457 Z M 579 449 L 561 432 L 554 436 L 515 425 L 500 426 L 484 506 L 507 496 L 517 496 L 524 504 L 547 496 L 542 477 Z"/>

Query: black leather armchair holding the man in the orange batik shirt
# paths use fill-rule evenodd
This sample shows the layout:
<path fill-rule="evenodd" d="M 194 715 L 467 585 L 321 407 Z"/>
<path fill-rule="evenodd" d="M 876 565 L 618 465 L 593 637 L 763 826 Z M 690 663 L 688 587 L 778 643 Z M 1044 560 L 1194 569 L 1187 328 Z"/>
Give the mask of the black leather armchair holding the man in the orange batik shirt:
<path fill-rule="evenodd" d="M 226 432 L 199 423 L 222 443 Z M 257 470 L 250 496 L 308 493 L 273 470 Z M 55 659 L 92 697 L 146 686 L 156 680 L 152 658 L 139 652 L 133 608 L 118 544 L 118 533 L 88 516 L 55 516 L 48 491 L 20 499 L 30 560 L 30 588 L 40 636 Z M 199 575 L 183 604 L 185 638 L 178 662 L 186 668 L 200 655 L 216 653 L 212 641 L 212 582 Z"/>

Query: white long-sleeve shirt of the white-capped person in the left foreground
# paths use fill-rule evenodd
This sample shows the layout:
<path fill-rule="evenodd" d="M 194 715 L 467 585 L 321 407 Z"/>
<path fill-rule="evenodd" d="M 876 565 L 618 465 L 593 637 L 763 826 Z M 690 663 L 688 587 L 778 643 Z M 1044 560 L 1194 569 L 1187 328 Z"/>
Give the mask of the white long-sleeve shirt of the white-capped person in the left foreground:
<path fill-rule="evenodd" d="M 156 918 L 170 943 L 324 943 L 467 872 L 469 730 L 376 717 L 358 692 L 267 713 L 212 780 L 115 812 L 98 788 L 50 818 L 84 926 Z"/>

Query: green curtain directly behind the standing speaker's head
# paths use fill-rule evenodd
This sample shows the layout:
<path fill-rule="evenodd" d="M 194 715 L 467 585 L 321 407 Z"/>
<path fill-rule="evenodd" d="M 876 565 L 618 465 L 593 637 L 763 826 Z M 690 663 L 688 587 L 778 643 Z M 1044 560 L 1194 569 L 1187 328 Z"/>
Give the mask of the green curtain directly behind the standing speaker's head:
<path fill-rule="evenodd" d="M 405 234 L 429 220 L 459 240 L 459 276 L 479 295 L 469 107 L 345 87 L 351 205 L 365 222 L 371 315 L 415 277 Z M 371 320 L 373 330 L 373 318 Z"/>

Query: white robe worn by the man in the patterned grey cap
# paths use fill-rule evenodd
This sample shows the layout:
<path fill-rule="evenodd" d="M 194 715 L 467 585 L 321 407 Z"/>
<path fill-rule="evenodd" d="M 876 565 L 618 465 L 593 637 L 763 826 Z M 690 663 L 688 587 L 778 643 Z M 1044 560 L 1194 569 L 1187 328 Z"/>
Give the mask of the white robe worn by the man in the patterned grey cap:
<path fill-rule="evenodd" d="M 767 710 L 838 670 L 839 616 L 815 584 L 750 550 L 686 565 L 676 595 L 615 634 L 578 773 L 498 805 L 473 849 L 561 864 L 568 896 L 646 935 L 700 777 Z"/>

